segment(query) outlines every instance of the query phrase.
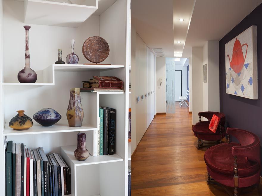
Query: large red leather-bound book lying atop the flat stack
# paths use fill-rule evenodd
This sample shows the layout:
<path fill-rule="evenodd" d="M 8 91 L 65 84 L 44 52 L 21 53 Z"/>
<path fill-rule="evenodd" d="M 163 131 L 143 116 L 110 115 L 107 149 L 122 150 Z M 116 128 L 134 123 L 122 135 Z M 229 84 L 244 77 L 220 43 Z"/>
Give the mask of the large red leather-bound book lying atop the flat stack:
<path fill-rule="evenodd" d="M 114 76 L 93 76 L 98 88 L 123 88 L 123 81 Z"/>

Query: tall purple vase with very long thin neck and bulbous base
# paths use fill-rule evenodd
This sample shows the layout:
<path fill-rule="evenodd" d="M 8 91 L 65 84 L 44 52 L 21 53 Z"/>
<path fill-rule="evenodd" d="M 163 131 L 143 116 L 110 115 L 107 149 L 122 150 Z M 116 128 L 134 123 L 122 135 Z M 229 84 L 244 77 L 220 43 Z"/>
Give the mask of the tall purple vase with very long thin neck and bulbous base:
<path fill-rule="evenodd" d="M 30 68 L 30 55 L 29 55 L 29 35 L 28 31 L 31 26 L 24 26 L 26 30 L 26 63 L 24 69 L 18 72 L 17 79 L 20 83 L 35 83 L 37 75 L 33 69 Z"/>

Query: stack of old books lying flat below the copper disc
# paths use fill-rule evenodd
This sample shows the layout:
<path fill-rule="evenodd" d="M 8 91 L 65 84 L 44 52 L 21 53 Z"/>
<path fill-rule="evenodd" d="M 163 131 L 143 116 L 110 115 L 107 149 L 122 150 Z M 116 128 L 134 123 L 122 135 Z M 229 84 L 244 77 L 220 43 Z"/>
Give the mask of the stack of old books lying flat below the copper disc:
<path fill-rule="evenodd" d="M 123 91 L 123 81 L 114 76 L 93 76 L 93 79 L 83 81 L 81 91 Z"/>

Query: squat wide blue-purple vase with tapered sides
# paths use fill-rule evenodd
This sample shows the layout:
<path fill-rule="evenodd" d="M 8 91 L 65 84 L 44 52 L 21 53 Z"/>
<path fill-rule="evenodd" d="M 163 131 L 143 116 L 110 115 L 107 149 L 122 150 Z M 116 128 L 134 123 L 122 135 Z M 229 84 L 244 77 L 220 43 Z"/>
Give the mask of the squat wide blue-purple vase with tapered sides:
<path fill-rule="evenodd" d="M 50 127 L 61 119 L 61 115 L 52 108 L 43 108 L 33 116 L 34 120 L 44 127 Z"/>

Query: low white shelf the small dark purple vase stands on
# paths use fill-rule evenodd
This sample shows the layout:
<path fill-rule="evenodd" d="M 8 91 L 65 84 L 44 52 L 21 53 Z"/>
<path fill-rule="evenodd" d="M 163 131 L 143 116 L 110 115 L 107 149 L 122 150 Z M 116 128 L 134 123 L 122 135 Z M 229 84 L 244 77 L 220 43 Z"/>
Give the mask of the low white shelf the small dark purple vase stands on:
<path fill-rule="evenodd" d="M 78 161 L 74 157 L 74 151 L 77 149 L 77 146 L 61 146 L 61 154 L 66 155 L 67 157 L 64 157 L 66 160 L 70 160 L 73 165 L 75 166 L 81 166 L 81 165 L 93 165 L 93 164 L 100 164 L 100 163 L 110 163 L 110 162 L 118 162 L 123 161 L 124 159 L 117 154 L 113 155 L 99 155 L 96 157 L 93 157 L 92 155 L 89 155 L 89 157 L 85 161 Z"/>

